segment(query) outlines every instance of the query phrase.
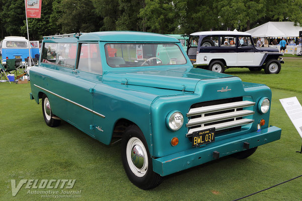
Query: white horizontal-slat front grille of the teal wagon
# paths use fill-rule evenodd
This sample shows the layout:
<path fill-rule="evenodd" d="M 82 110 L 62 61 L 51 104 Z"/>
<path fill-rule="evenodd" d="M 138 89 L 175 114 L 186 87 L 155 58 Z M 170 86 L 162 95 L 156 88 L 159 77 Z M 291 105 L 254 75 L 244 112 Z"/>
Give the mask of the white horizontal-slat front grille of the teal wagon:
<path fill-rule="evenodd" d="M 254 105 L 254 102 L 242 100 L 242 97 L 194 104 L 187 113 L 189 121 L 186 124 L 188 127 L 186 137 L 191 137 L 195 131 L 209 128 L 215 128 L 216 134 L 218 134 L 251 124 L 254 120 L 244 117 L 253 115 L 255 112 L 243 109 Z"/>

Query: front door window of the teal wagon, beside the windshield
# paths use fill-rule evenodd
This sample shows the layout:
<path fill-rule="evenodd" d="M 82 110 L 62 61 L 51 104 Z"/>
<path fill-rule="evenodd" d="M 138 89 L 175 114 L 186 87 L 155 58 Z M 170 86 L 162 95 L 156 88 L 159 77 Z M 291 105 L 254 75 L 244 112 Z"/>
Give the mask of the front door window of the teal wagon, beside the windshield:
<path fill-rule="evenodd" d="M 102 74 L 102 62 L 98 43 L 81 43 L 78 69 Z"/>

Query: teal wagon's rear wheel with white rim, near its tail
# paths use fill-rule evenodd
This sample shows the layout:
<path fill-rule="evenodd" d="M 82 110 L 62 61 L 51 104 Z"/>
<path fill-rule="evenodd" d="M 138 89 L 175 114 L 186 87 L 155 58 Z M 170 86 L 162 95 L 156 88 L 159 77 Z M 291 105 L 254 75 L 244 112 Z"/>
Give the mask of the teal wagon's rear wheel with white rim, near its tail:
<path fill-rule="evenodd" d="M 56 127 L 60 125 L 60 120 L 52 118 L 54 115 L 52 114 L 50 102 L 46 94 L 43 94 L 42 96 L 42 112 L 47 126 Z"/>

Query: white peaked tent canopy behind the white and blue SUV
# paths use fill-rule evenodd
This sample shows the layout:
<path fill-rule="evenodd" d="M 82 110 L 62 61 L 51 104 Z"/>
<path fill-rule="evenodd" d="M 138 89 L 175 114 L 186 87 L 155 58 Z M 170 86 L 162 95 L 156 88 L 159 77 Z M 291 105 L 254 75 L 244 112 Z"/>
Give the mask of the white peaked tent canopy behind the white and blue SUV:
<path fill-rule="evenodd" d="M 252 37 L 298 37 L 302 27 L 294 26 L 293 22 L 267 22 L 254 29 L 246 31 Z"/>

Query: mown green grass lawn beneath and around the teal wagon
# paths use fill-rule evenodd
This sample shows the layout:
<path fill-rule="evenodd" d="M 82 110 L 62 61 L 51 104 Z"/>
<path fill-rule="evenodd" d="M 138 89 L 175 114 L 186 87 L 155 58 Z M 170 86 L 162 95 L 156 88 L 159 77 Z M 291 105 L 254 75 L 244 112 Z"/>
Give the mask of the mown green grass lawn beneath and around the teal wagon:
<path fill-rule="evenodd" d="M 279 74 L 231 68 L 243 81 L 265 83 L 273 92 L 270 125 L 281 139 L 260 146 L 251 157 L 220 158 L 165 177 L 157 188 L 141 190 L 127 178 L 120 144 L 106 146 L 66 122 L 50 128 L 41 104 L 29 99 L 30 84 L 0 82 L 0 200 L 54 200 L 30 194 L 25 185 L 12 196 L 11 179 L 76 179 L 80 198 L 57 200 L 233 200 L 301 175 L 301 138 L 279 98 L 302 103 L 302 59 L 284 59 Z M 243 200 L 300 200 L 302 177 Z M 38 189 L 39 190 L 39 189 Z M 45 189 L 46 190 L 46 189 Z"/>

